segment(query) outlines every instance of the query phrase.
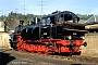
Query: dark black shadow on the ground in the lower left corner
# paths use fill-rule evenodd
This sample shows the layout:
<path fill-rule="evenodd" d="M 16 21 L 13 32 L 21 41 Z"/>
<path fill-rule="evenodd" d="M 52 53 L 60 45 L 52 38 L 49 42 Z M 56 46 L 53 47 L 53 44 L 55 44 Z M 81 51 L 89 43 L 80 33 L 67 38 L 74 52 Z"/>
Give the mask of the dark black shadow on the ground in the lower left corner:
<path fill-rule="evenodd" d="M 11 56 L 9 53 L 0 52 L 0 65 L 7 65 L 13 60 L 15 60 L 15 57 Z"/>

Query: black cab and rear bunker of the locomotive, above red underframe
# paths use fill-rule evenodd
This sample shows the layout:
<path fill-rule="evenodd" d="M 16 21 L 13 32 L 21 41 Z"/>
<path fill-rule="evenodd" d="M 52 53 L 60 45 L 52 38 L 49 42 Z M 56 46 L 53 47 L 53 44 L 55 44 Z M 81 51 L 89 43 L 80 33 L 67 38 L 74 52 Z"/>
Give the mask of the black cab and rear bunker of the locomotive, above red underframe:
<path fill-rule="evenodd" d="M 85 31 L 81 32 L 74 29 L 85 29 L 85 25 L 78 24 L 79 17 L 72 12 L 54 12 L 49 15 L 45 15 L 41 18 L 44 26 L 41 27 L 41 36 L 52 38 L 69 38 L 69 37 L 83 37 Z M 73 32 L 74 31 L 74 32 Z M 44 32 L 48 35 L 44 35 Z M 73 34 L 73 35 L 72 35 Z M 81 35 L 79 35 L 81 34 Z M 45 38 L 47 38 L 45 37 Z M 44 37 L 42 37 L 44 38 Z"/>

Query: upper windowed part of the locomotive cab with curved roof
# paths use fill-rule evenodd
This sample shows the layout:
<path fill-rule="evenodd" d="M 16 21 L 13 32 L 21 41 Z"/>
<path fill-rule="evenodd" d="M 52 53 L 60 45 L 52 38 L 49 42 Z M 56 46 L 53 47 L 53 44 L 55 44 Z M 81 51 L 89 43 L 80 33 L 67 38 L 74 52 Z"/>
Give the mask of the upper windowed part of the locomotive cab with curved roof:
<path fill-rule="evenodd" d="M 74 13 L 64 11 L 64 12 L 54 12 L 42 17 L 42 24 L 57 24 L 58 22 L 72 22 L 78 23 L 79 17 Z"/>

